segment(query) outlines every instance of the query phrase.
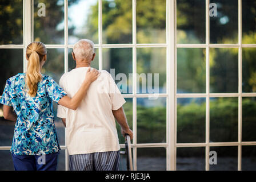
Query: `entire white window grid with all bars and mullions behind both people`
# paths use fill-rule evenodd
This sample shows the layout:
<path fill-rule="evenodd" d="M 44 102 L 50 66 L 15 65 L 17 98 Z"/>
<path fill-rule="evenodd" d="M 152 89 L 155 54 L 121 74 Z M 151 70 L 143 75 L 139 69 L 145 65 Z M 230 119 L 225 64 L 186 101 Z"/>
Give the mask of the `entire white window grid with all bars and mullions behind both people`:
<path fill-rule="evenodd" d="M 68 49 L 73 48 L 68 43 L 68 20 L 67 9 L 68 0 L 64 1 L 64 44 L 46 44 L 46 48 L 63 48 L 65 50 L 65 73 L 68 72 Z M 242 92 L 242 48 L 256 48 L 256 44 L 242 44 L 242 0 L 238 1 L 238 43 L 237 44 L 210 44 L 210 16 L 209 3 L 205 1 L 206 10 L 206 43 L 205 44 L 178 44 L 177 39 L 177 0 L 166 0 L 166 43 L 150 43 L 137 44 L 136 30 L 136 0 L 132 1 L 132 33 L 133 43 L 131 44 L 103 44 L 102 43 L 102 1 L 98 0 L 98 48 L 99 53 L 99 69 L 102 69 L 102 48 L 132 48 L 133 49 L 133 73 L 137 73 L 137 48 L 166 48 L 166 93 L 160 93 L 159 97 L 166 98 L 166 143 L 137 143 L 137 98 L 147 98 L 154 96 L 153 94 L 137 93 L 137 75 L 133 74 L 133 93 L 122 94 L 125 98 L 133 98 L 133 132 L 134 139 L 131 144 L 133 148 L 133 164 L 137 170 L 137 148 L 166 148 L 166 169 L 176 170 L 176 150 L 177 147 L 205 147 L 205 169 L 209 171 L 209 152 L 213 146 L 237 146 L 238 147 L 238 170 L 241 170 L 242 146 L 254 146 L 256 142 L 242 142 L 242 98 L 256 97 L 256 93 Z M 26 71 L 26 46 L 33 42 L 34 27 L 34 1 L 23 0 L 23 44 L 0 45 L 0 48 L 23 49 L 23 71 Z M 206 49 L 206 93 L 177 93 L 177 48 L 205 48 Z M 209 49 L 210 48 L 238 48 L 238 93 L 210 93 L 210 65 L 209 65 Z M 206 129 L 205 141 L 203 143 L 177 143 L 177 98 L 206 98 Z M 210 98 L 211 97 L 237 97 L 238 98 L 238 142 L 210 142 Z M 66 133 L 66 131 L 65 131 Z M 66 135 L 65 135 L 66 137 Z M 124 144 L 120 144 L 124 148 Z M 0 150 L 10 150 L 10 146 L 0 146 Z M 65 169 L 69 168 L 69 154 L 65 146 L 61 146 L 65 150 Z"/>

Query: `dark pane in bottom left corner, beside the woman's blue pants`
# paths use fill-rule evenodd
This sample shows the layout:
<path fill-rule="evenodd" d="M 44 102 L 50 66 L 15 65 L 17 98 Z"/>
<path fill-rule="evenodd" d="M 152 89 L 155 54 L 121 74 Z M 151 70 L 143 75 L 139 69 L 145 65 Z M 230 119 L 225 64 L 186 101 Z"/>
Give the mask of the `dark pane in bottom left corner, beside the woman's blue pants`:
<path fill-rule="evenodd" d="M 0 170 L 14 171 L 13 158 L 9 150 L 0 150 Z"/>

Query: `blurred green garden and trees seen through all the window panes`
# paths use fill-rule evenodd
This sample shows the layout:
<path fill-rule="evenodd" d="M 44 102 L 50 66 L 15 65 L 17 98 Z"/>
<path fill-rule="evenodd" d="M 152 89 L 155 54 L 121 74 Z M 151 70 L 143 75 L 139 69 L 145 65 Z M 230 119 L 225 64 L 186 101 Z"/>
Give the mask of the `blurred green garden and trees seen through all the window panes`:
<path fill-rule="evenodd" d="M 68 44 L 87 38 L 99 44 L 98 1 L 68 0 Z M 206 43 L 204 0 L 177 0 L 177 44 Z M 218 16 L 210 17 L 210 44 L 238 44 L 238 1 L 210 0 L 217 3 Z M 45 3 L 46 16 L 37 15 L 38 3 Z M 102 43 L 133 43 L 132 1 L 102 1 Z M 0 45 L 23 44 L 23 1 L 1 0 Z M 137 0 L 137 44 L 166 43 L 166 0 Z M 45 44 L 65 43 L 63 0 L 34 0 L 34 40 Z M 256 1 L 242 1 L 242 43 L 256 44 Z M 68 69 L 75 68 L 68 49 Z M 99 69 L 97 56 L 91 67 Z M 7 78 L 23 72 L 23 48 L 0 48 L 0 95 Z M 166 47 L 137 48 L 137 73 L 159 73 L 159 93 L 166 93 Z M 177 93 L 206 93 L 206 49 L 177 48 Z M 131 94 L 133 80 L 132 48 L 102 48 L 102 68 L 115 75 L 125 73 Z M 65 72 L 65 49 L 48 48 L 44 74 L 55 81 Z M 210 93 L 238 93 L 238 48 L 210 48 Z M 154 80 L 154 79 L 153 79 Z M 117 83 L 119 82 L 116 81 Z M 140 81 L 141 83 L 141 81 Z M 169 83 L 174 84 L 174 83 Z M 242 48 L 242 92 L 256 92 L 256 48 Z M 137 93 L 142 93 L 137 89 Z M 242 142 L 256 141 L 256 95 L 242 98 Z M 123 106 L 133 128 L 133 98 Z M 137 98 L 137 143 L 166 143 L 166 97 L 157 100 Z M 177 143 L 206 142 L 206 98 L 177 98 Z M 65 128 L 56 117 L 61 146 Z M 0 107 L 0 146 L 11 146 L 14 122 L 5 121 Z M 119 142 L 124 143 L 120 128 Z M 210 98 L 210 142 L 238 142 L 238 97 Z M 218 165 L 210 170 L 237 170 L 238 146 L 210 147 L 217 151 Z M 125 156 L 121 168 L 125 170 Z M 205 147 L 177 147 L 177 170 L 205 170 Z M 65 170 L 65 150 L 59 155 L 59 170 Z M 166 148 L 137 148 L 138 170 L 166 170 Z M 256 146 L 242 146 L 242 170 L 256 169 Z M 0 170 L 13 170 L 9 151 L 0 150 Z"/>

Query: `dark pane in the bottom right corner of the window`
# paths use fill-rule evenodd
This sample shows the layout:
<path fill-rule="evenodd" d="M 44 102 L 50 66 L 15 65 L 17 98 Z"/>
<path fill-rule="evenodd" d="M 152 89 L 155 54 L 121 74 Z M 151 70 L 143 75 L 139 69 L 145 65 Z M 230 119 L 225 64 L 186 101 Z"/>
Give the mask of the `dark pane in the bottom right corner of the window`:
<path fill-rule="evenodd" d="M 242 146 L 242 170 L 256 170 L 256 146 Z"/>

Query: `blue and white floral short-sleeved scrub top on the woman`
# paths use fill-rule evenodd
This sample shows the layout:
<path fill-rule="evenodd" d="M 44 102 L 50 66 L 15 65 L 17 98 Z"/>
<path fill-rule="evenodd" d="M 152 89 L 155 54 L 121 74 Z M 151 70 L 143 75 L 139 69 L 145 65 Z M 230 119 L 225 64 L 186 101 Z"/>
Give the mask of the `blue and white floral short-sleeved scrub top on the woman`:
<path fill-rule="evenodd" d="M 13 106 L 17 114 L 11 152 L 15 155 L 52 154 L 60 150 L 54 125 L 53 101 L 66 92 L 50 76 L 42 75 L 37 95 L 25 90 L 25 73 L 6 81 L 0 103 Z"/>

